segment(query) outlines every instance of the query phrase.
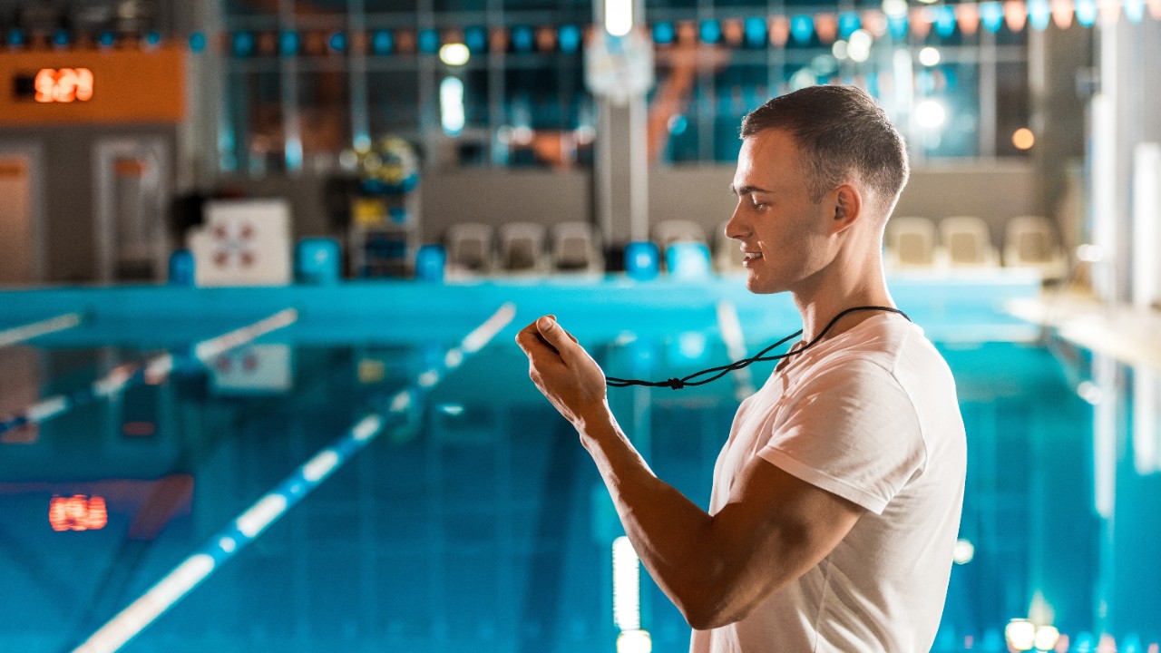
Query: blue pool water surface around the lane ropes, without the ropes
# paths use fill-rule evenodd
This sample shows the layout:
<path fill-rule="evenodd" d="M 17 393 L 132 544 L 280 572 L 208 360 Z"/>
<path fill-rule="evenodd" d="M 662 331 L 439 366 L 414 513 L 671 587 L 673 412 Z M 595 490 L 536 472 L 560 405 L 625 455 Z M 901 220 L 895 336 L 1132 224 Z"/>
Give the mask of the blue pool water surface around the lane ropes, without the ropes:
<path fill-rule="evenodd" d="M 0 350 L 0 416 L 240 322 L 176 336 L 93 328 L 98 342 Z M 618 376 L 664 379 L 728 359 L 712 316 L 687 322 L 583 323 L 578 335 Z M 84 641 L 361 416 L 385 410 L 473 323 L 388 338 L 365 324 L 346 342 L 304 326 L 5 433 L 0 650 Z M 576 435 L 527 380 L 514 328 L 124 650 L 613 651 L 620 526 Z M 779 330 L 748 332 L 748 349 Z M 953 569 L 936 651 L 1004 651 L 1004 626 L 1030 616 L 1068 638 L 1060 650 L 1096 651 L 1105 634 L 1119 651 L 1155 651 L 1161 475 L 1134 462 L 1134 372 L 1115 367 L 1102 397 L 1112 430 L 1095 430 L 1098 409 L 1076 392 L 1094 379 L 1091 354 L 1059 343 L 938 344 L 969 438 L 961 537 L 974 555 Z M 755 382 L 769 371 L 755 366 Z M 610 392 L 654 471 L 702 507 L 735 383 Z M 104 498 L 106 525 L 55 531 L 53 497 L 77 495 Z M 688 627 L 647 577 L 642 626 L 654 651 L 687 646 Z"/>

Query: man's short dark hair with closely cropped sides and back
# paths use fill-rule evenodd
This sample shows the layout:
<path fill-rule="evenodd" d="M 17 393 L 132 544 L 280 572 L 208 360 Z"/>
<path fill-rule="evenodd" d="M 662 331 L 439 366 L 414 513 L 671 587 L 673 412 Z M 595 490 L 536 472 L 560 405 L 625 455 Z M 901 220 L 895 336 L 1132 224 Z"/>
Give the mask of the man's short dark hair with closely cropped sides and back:
<path fill-rule="evenodd" d="M 742 119 L 742 138 L 767 129 L 794 138 L 813 202 L 853 174 L 878 195 L 886 217 L 910 174 L 903 137 L 874 99 L 853 86 L 809 86 Z"/>

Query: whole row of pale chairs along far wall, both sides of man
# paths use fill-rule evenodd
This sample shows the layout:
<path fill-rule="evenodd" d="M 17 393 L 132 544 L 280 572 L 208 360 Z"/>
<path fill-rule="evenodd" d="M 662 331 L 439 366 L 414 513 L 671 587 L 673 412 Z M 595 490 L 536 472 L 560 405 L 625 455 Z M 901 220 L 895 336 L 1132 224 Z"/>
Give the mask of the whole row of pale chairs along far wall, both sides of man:
<path fill-rule="evenodd" d="M 717 272 L 742 270 L 737 241 L 727 238 L 726 224 L 713 238 L 713 266 Z M 699 243 L 709 249 L 705 229 L 697 222 L 671 220 L 655 224 L 650 234 L 661 252 L 675 243 Z M 899 216 L 887 223 L 885 261 L 888 268 L 1031 267 L 1045 279 L 1067 272 L 1067 257 L 1048 220 L 1040 216 L 1011 218 L 1005 227 L 1003 257 L 993 245 L 985 221 L 973 216 Z M 512 222 L 498 228 L 461 223 L 446 237 L 448 271 L 453 274 L 546 274 L 605 271 L 604 249 L 591 224 L 565 222 L 546 227 Z M 664 265 L 664 257 L 662 257 Z"/>

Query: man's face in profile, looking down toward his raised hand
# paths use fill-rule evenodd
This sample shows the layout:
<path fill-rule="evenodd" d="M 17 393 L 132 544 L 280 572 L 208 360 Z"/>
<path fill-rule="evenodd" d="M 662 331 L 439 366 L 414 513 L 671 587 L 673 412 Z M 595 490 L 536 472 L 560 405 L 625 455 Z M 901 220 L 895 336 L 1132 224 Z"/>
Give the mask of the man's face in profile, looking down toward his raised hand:
<path fill-rule="evenodd" d="M 830 202 L 810 201 L 802 167 L 798 145 L 783 130 L 742 142 L 731 185 L 737 208 L 726 236 L 745 252 L 745 286 L 752 293 L 805 289 L 828 261 Z"/>

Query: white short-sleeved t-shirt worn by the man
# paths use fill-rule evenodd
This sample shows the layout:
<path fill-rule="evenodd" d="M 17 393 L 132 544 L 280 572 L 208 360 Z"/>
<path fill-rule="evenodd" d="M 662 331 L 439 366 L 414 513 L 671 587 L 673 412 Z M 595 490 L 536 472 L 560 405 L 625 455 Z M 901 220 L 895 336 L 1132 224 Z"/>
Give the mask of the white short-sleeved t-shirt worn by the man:
<path fill-rule="evenodd" d="M 817 566 L 692 653 L 931 648 L 964 503 L 967 447 L 951 371 L 923 330 L 872 316 L 788 359 L 742 402 L 709 514 L 759 457 L 866 509 Z"/>

